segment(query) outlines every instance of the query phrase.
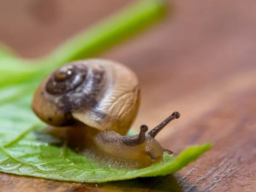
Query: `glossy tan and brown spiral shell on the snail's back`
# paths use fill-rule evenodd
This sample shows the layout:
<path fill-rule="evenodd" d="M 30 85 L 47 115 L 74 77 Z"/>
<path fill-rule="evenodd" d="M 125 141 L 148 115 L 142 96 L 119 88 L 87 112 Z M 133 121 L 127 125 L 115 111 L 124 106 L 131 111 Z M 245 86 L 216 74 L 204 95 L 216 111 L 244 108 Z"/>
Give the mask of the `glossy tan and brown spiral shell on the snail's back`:
<path fill-rule="evenodd" d="M 113 61 L 89 59 L 50 74 L 36 90 L 32 109 L 49 125 L 66 126 L 79 120 L 125 135 L 139 103 L 140 88 L 134 72 Z"/>

